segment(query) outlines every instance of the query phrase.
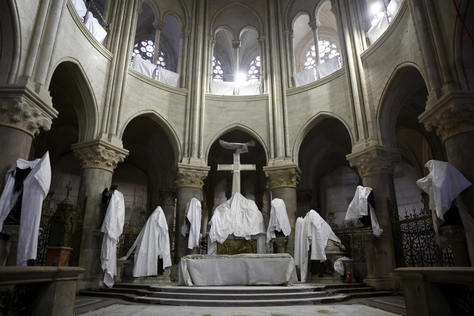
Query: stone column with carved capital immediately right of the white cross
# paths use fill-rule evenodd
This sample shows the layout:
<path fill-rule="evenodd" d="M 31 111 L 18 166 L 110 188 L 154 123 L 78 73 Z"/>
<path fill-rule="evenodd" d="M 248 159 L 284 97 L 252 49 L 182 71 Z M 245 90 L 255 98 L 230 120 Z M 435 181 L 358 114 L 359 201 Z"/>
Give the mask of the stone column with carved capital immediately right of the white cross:
<path fill-rule="evenodd" d="M 272 199 L 281 198 L 286 205 L 286 213 L 291 226 L 291 234 L 288 236 L 286 253 L 295 255 L 295 223 L 296 223 L 296 185 L 300 180 L 301 170 L 296 164 L 285 166 L 263 167 L 265 175 L 270 178 L 270 189 Z"/>

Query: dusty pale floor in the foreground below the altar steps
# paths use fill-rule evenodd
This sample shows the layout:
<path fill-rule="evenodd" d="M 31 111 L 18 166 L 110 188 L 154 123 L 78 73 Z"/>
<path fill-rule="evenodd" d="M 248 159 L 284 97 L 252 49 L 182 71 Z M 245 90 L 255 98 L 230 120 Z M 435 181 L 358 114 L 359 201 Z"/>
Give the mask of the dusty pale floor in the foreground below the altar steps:
<path fill-rule="evenodd" d="M 77 296 L 75 315 L 80 316 L 395 316 L 405 314 L 402 296 L 353 299 L 337 305 L 278 307 L 190 307 L 144 305 L 116 299 Z"/>

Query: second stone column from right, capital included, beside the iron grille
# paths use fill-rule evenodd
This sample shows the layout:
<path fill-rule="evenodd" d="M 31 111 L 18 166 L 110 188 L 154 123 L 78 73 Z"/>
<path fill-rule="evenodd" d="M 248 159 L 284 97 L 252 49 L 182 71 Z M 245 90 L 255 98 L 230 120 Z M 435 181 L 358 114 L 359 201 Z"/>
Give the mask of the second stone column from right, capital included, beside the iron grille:
<path fill-rule="evenodd" d="M 389 211 L 386 199 L 396 207 L 394 170 L 400 152 L 377 144 L 367 144 L 365 148 L 353 147 L 353 153 L 347 156 L 351 166 L 356 166 L 364 187 L 370 187 L 374 193 L 375 215 L 383 230 L 382 235 L 373 241 L 375 263 L 367 257 L 367 267 L 374 267 L 373 276 L 367 283 L 376 288 L 392 288 L 390 274 L 395 269 L 395 252 L 392 244 Z"/>

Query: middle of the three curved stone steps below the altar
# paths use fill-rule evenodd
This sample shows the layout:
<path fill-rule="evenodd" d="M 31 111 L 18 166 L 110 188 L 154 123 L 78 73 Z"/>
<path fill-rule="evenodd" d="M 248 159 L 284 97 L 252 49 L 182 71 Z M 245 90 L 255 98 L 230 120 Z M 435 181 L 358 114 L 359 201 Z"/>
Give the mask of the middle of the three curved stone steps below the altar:
<path fill-rule="evenodd" d="M 328 293 L 320 292 L 294 292 L 294 293 L 245 293 L 245 294 L 229 294 L 229 293 L 171 293 L 156 292 L 147 297 L 159 299 L 184 299 L 184 300 L 213 300 L 213 301 L 255 301 L 255 300 L 286 300 L 286 299 L 315 299 L 327 297 Z"/>

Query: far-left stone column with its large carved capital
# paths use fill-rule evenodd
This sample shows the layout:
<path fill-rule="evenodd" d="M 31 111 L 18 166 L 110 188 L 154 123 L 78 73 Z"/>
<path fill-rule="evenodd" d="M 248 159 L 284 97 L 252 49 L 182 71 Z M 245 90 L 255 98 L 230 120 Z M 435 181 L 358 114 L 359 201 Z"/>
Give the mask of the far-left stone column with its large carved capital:
<path fill-rule="evenodd" d="M 16 159 L 28 159 L 33 138 L 40 129 L 49 130 L 57 114 L 51 97 L 41 99 L 31 80 L 24 86 L 0 86 L 0 193 L 6 171 Z"/>

